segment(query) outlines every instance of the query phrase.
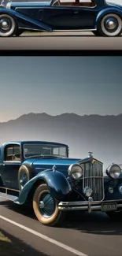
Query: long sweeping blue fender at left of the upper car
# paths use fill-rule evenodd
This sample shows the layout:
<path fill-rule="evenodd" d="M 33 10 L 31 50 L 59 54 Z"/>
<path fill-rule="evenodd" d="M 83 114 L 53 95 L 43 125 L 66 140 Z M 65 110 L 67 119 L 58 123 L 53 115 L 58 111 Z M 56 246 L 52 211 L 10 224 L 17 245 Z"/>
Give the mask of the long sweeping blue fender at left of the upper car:
<path fill-rule="evenodd" d="M 50 26 L 43 24 L 42 22 L 38 20 L 31 19 L 30 17 L 18 13 L 13 9 L 7 9 L 7 8 L 1 8 L 0 7 L 0 14 L 8 14 L 11 15 L 13 18 L 16 19 L 18 28 L 24 27 L 24 29 L 30 29 L 30 30 L 43 30 L 51 32 L 52 28 Z"/>

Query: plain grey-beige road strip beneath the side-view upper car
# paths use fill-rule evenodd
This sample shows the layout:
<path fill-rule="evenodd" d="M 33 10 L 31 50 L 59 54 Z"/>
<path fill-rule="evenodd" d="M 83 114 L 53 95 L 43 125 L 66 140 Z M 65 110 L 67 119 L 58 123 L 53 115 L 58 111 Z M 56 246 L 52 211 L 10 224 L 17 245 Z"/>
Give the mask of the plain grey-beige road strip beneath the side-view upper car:
<path fill-rule="evenodd" d="M 0 38 L 0 50 L 122 50 L 122 36 L 97 37 L 91 32 L 42 32 Z"/>

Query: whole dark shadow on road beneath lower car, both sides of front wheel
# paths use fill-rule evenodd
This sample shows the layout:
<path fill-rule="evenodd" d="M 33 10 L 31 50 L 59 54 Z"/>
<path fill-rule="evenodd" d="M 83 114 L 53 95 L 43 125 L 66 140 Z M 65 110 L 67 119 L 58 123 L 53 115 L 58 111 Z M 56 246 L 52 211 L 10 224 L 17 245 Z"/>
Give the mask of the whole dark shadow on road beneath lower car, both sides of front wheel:
<path fill-rule="evenodd" d="M 20 213 L 31 219 L 36 219 L 35 213 L 30 206 L 18 206 L 13 202 L 2 201 L 0 205 L 6 206 L 9 210 Z M 48 228 L 48 227 L 46 227 Z M 57 227 L 58 228 L 58 227 Z M 56 229 L 57 229 L 56 228 Z M 79 232 L 95 235 L 121 236 L 122 219 L 110 219 L 106 213 L 92 212 L 68 212 L 60 228 L 76 229 Z"/>

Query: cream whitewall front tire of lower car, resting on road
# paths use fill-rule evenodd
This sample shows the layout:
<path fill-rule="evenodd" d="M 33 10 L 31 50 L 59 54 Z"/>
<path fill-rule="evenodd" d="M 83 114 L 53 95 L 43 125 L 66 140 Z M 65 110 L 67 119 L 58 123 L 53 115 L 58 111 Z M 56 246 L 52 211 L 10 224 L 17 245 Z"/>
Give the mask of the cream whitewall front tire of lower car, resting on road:
<path fill-rule="evenodd" d="M 42 202 L 41 207 L 39 207 L 39 202 Z M 57 201 L 50 194 L 46 184 L 41 184 L 36 188 L 32 204 L 35 216 L 42 224 L 54 226 L 60 224 L 65 217 L 65 214 L 58 210 Z"/>

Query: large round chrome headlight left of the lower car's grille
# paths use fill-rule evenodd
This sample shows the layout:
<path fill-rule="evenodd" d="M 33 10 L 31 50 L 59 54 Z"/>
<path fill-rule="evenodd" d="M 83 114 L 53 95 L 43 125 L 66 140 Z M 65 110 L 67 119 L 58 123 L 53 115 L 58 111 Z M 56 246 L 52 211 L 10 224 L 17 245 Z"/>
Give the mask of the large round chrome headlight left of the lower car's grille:
<path fill-rule="evenodd" d="M 79 180 L 83 175 L 83 169 L 80 165 L 70 165 L 68 168 L 68 175 L 75 180 Z"/>

